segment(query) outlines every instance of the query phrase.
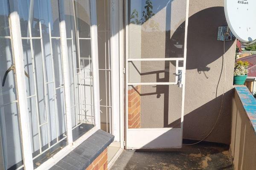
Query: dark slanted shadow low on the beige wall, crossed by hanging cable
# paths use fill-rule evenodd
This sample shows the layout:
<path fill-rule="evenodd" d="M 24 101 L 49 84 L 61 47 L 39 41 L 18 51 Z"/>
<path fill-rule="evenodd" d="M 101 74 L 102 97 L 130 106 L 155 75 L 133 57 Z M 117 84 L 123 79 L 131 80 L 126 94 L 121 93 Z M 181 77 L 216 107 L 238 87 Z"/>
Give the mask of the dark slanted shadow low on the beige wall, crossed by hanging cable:
<path fill-rule="evenodd" d="M 228 141 L 230 141 L 232 114 L 230 96 L 233 96 L 233 89 L 224 94 L 224 103 L 219 118 L 218 113 L 221 108 L 222 96 L 218 96 L 194 111 L 184 115 L 183 138 L 195 140 L 204 139 L 218 118 L 218 122 L 216 123 L 214 130 L 205 140 L 216 141 L 212 136 L 221 136 L 221 139 L 218 140 L 221 141 L 221 143 L 229 144 Z M 215 114 L 212 115 L 212 113 Z M 180 119 L 175 122 L 179 121 Z M 209 138 L 211 139 L 209 140 Z"/>

